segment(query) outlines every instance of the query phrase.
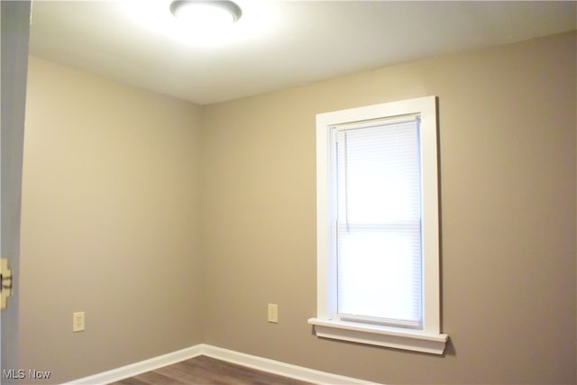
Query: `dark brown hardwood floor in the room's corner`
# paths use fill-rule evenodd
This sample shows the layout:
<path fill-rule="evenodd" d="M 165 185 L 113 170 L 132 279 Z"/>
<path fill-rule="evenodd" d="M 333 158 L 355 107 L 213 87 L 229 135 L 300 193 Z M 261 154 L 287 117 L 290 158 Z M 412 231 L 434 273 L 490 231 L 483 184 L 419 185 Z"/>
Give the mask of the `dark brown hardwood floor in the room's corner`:
<path fill-rule="evenodd" d="M 148 371 L 110 385 L 312 385 L 204 355 Z"/>

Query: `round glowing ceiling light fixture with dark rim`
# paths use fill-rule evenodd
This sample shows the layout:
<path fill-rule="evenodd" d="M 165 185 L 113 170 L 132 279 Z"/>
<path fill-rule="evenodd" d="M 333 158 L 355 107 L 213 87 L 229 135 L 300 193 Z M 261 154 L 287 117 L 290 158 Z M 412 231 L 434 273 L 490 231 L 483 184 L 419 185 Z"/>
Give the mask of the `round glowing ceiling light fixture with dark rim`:
<path fill-rule="evenodd" d="M 177 0 L 170 4 L 170 12 L 203 34 L 222 31 L 243 15 L 241 7 L 228 0 Z"/>

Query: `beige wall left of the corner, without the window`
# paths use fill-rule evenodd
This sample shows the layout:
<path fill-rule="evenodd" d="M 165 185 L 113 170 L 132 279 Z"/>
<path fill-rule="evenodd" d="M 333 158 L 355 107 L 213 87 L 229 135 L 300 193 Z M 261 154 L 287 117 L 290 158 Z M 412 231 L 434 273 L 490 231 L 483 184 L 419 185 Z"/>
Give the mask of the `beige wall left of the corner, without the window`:
<path fill-rule="evenodd" d="M 20 367 L 58 383 L 201 343 L 200 109 L 29 65 Z"/>

